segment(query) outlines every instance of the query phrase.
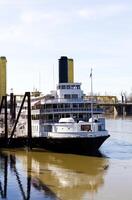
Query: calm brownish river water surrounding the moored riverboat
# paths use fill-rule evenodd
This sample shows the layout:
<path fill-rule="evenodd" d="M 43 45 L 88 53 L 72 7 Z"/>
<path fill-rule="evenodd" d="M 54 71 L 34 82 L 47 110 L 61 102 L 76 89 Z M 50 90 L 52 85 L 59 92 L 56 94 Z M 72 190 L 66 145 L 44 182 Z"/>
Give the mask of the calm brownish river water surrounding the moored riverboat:
<path fill-rule="evenodd" d="M 0 151 L 0 199 L 131 200 L 132 118 L 107 119 L 100 155 Z"/>

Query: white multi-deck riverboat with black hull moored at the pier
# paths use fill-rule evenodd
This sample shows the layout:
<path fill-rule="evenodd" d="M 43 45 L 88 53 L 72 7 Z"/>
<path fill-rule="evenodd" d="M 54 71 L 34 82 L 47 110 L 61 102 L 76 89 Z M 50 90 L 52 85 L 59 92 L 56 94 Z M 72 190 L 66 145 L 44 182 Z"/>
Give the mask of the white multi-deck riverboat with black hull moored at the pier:
<path fill-rule="evenodd" d="M 81 83 L 59 77 L 56 91 L 31 102 L 32 137 L 36 146 L 53 151 L 85 153 L 97 151 L 109 137 L 103 110 L 92 95 L 90 99 L 86 98 Z M 25 114 L 22 117 L 25 119 Z M 27 132 L 23 128 L 27 129 L 21 120 L 19 136 Z"/>

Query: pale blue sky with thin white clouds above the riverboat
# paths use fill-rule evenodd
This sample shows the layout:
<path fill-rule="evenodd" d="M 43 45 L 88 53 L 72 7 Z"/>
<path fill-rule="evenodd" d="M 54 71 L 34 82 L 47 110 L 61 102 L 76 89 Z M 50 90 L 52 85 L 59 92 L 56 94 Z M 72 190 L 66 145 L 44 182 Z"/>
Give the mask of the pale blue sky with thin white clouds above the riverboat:
<path fill-rule="evenodd" d="M 74 80 L 90 93 L 132 92 L 131 0 L 0 0 L 0 56 L 7 93 L 58 84 L 58 59 L 74 59 Z"/>

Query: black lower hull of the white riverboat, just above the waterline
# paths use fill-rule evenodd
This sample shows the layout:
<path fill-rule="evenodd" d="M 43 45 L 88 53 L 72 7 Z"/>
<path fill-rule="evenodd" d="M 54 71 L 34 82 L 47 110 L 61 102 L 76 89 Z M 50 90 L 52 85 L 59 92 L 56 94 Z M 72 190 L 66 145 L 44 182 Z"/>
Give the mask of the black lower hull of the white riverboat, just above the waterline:
<path fill-rule="evenodd" d="M 27 137 L 12 138 L 10 141 L 0 138 L 0 147 L 28 147 L 42 148 L 55 152 L 65 153 L 91 153 L 97 151 L 103 142 L 109 137 L 100 136 L 95 138 L 46 138 L 34 137 L 29 140 Z"/>

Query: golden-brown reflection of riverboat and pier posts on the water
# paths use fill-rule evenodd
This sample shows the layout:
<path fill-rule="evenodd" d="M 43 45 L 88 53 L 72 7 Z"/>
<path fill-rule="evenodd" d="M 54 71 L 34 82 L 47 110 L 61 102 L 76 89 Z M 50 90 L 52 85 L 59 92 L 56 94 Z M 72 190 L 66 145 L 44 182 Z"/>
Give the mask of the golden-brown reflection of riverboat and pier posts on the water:
<path fill-rule="evenodd" d="M 107 159 L 98 157 L 5 151 L 0 157 L 0 195 L 3 199 L 92 199 L 104 184 L 108 165 Z"/>

